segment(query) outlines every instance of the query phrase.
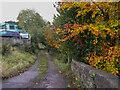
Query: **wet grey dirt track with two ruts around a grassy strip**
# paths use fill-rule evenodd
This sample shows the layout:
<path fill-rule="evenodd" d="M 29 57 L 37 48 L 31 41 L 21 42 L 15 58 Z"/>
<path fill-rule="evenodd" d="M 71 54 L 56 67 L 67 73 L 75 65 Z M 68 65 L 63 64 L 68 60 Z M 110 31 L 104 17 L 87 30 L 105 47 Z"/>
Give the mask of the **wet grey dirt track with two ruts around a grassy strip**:
<path fill-rule="evenodd" d="M 38 59 L 34 65 L 32 65 L 28 71 L 21 73 L 18 76 L 4 80 L 2 83 L 3 88 L 67 88 L 69 80 L 64 75 L 59 73 L 58 68 L 54 64 L 51 56 L 45 52 L 49 67 L 48 73 L 44 74 L 44 79 L 39 76 L 40 68 L 37 67 L 40 62 L 40 52 L 38 53 Z M 35 79 L 37 77 L 37 79 Z"/>

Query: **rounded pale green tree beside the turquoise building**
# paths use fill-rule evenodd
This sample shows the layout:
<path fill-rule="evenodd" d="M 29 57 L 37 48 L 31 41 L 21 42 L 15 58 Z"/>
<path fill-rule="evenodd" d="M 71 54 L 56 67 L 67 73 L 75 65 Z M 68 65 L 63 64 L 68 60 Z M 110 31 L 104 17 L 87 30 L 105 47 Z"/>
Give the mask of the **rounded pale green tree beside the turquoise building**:
<path fill-rule="evenodd" d="M 44 27 L 46 25 L 45 20 L 35 12 L 35 10 L 26 9 L 21 10 L 17 19 L 19 20 L 18 25 L 24 27 L 31 35 L 32 51 L 36 53 L 38 49 L 38 43 L 44 42 Z"/>

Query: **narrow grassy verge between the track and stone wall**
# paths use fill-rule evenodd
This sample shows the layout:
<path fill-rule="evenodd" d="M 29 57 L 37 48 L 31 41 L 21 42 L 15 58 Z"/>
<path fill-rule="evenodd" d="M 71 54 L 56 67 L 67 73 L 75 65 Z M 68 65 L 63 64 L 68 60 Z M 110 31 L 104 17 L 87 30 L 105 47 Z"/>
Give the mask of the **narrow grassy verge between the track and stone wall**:
<path fill-rule="evenodd" d="M 74 86 L 75 88 L 80 89 L 80 83 L 71 72 L 70 65 L 58 60 L 56 56 L 53 56 L 53 60 L 60 70 L 59 73 L 64 74 L 69 79 L 70 85 L 68 87 Z"/>

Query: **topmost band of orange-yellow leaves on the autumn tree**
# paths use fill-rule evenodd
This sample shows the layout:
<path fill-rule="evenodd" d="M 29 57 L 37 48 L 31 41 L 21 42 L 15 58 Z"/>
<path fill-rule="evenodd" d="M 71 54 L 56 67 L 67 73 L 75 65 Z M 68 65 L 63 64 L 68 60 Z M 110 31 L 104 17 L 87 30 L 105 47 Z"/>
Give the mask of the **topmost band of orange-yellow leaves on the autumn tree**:
<path fill-rule="evenodd" d="M 118 6 L 114 5 L 112 2 L 61 2 L 62 5 L 60 5 L 60 8 L 65 11 L 70 10 L 71 8 L 78 8 L 76 9 L 77 15 L 76 17 L 82 15 L 86 16 L 87 12 L 92 11 L 92 18 L 95 17 L 96 14 L 100 14 L 101 16 L 99 19 L 106 17 L 107 14 L 110 15 L 110 18 L 114 17 L 113 12 L 116 11 L 118 12 Z M 113 5 L 110 5 L 113 4 Z M 103 9 L 103 10 L 102 10 Z M 104 11 L 104 14 L 103 14 Z M 100 20 L 101 21 L 101 20 Z"/>

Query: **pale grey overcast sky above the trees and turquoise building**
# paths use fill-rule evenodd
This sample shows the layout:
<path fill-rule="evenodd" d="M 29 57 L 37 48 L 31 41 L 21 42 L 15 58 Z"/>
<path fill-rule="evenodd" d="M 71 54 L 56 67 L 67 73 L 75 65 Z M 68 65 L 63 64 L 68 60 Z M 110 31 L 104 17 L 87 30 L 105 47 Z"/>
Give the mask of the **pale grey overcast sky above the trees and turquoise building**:
<path fill-rule="evenodd" d="M 17 0 L 16 0 L 17 1 Z M 22 2 L 21 2 L 22 1 Z M 7 0 L 0 2 L 0 22 L 5 20 L 17 20 L 19 12 L 23 9 L 35 9 L 43 19 L 52 22 L 54 14 L 57 14 L 56 9 L 53 7 L 55 0 Z"/>

